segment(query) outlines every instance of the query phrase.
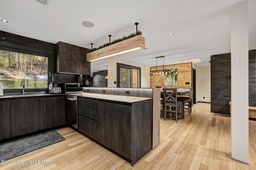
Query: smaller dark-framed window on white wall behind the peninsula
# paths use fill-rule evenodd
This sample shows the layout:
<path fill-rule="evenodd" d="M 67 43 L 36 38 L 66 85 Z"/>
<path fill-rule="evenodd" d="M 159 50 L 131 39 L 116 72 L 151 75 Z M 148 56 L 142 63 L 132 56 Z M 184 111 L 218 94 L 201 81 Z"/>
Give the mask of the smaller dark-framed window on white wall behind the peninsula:
<path fill-rule="evenodd" d="M 140 67 L 117 63 L 117 87 L 139 88 Z"/>

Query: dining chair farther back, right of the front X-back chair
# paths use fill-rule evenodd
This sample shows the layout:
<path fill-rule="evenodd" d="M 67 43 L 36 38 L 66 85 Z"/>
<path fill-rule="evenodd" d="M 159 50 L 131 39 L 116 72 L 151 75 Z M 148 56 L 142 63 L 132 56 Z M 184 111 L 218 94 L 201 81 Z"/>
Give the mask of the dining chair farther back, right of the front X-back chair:
<path fill-rule="evenodd" d="M 191 87 L 184 87 L 183 89 L 188 89 L 189 92 L 187 94 L 184 94 L 182 96 L 178 97 L 178 101 L 182 102 L 183 105 L 183 112 L 182 112 L 182 118 L 185 118 L 185 112 L 189 111 L 190 113 L 192 112 L 192 90 Z M 188 107 L 186 107 L 188 106 Z"/>

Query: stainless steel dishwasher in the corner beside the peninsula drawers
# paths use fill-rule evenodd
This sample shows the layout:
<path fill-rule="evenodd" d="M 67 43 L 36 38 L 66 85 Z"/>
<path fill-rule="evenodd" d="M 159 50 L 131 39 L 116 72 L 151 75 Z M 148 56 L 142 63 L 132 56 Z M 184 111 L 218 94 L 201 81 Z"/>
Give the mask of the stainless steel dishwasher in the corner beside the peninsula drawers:
<path fill-rule="evenodd" d="M 66 97 L 66 108 L 67 108 L 67 124 L 78 129 L 78 107 L 77 97 L 67 95 Z"/>

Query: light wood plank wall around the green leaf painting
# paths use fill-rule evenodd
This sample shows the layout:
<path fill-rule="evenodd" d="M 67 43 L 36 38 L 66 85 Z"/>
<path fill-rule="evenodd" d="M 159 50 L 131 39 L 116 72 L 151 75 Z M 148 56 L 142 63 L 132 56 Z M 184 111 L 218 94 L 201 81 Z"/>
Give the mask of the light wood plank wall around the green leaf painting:
<path fill-rule="evenodd" d="M 178 85 L 172 87 L 192 87 L 192 63 L 173 64 L 164 66 L 164 70 L 177 68 L 178 69 Z M 151 71 L 156 71 L 156 66 L 150 67 Z M 157 66 L 157 70 L 163 70 L 163 66 Z M 189 83 L 189 84 L 186 84 Z M 150 76 L 151 88 L 161 86 L 161 76 Z"/>

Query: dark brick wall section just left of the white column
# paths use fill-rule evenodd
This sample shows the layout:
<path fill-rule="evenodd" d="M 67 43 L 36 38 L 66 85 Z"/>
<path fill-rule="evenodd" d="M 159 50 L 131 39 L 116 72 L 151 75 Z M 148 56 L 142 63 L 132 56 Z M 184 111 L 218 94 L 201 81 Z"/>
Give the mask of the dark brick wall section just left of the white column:
<path fill-rule="evenodd" d="M 211 112 L 229 113 L 231 100 L 231 54 L 211 56 Z"/>

